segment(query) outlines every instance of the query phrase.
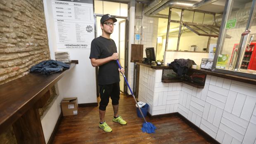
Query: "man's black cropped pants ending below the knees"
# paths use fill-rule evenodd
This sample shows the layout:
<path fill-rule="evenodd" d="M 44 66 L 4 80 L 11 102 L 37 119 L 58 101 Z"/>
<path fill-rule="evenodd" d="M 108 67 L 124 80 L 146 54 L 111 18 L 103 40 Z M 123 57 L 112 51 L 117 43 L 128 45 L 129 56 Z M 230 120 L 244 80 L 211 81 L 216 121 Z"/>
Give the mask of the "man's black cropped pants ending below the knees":
<path fill-rule="evenodd" d="M 109 97 L 112 99 L 112 105 L 118 105 L 120 99 L 120 86 L 119 83 L 109 85 L 99 85 L 100 88 L 100 106 L 99 109 L 106 111 L 109 104 Z"/>

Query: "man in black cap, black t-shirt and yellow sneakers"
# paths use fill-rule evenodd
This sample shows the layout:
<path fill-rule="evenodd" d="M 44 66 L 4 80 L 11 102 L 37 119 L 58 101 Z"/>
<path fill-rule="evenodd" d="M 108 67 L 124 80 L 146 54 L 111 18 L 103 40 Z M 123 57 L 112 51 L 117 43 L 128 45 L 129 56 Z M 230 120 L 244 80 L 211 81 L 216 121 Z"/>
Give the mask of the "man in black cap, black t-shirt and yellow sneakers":
<path fill-rule="evenodd" d="M 92 66 L 99 66 L 98 83 L 100 87 L 100 125 L 105 132 L 111 132 L 112 129 L 105 122 L 106 107 L 109 103 L 109 97 L 112 99 L 112 105 L 114 109 L 114 118 L 112 119 L 116 123 L 126 125 L 126 121 L 118 115 L 119 108 L 119 71 L 124 73 L 124 69 L 121 70 L 116 63 L 119 55 L 117 53 L 116 43 L 110 38 L 111 33 L 114 30 L 114 23 L 117 20 L 109 14 L 105 14 L 100 19 L 100 27 L 102 29 L 102 35 L 92 40 L 90 59 Z"/>

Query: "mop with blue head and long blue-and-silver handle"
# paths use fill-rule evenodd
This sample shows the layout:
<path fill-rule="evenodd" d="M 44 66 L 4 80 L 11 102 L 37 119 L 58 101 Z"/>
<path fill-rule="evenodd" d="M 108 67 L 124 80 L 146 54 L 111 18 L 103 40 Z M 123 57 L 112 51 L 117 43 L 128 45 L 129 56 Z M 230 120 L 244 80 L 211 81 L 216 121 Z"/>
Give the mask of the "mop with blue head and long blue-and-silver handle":
<path fill-rule="evenodd" d="M 119 64 L 118 59 L 116 59 L 116 62 L 117 62 L 117 64 L 118 64 L 119 68 L 121 69 L 121 66 L 120 66 L 120 64 Z M 123 73 L 122 73 L 122 75 L 123 75 L 123 78 L 126 80 L 126 76 L 124 76 Z M 133 95 L 133 91 L 130 89 L 130 85 L 129 85 L 129 83 L 128 83 L 127 80 L 126 80 L 126 84 L 127 84 L 128 87 L 129 87 L 130 93 Z M 149 123 L 149 122 L 146 121 L 146 119 L 145 119 L 145 117 L 144 117 L 144 115 L 143 115 L 143 113 L 142 113 L 142 111 L 141 111 L 141 109 L 140 109 L 140 106 L 139 106 L 139 104 L 137 103 L 137 100 L 135 99 L 134 95 L 133 95 L 133 99 L 135 100 L 135 102 L 136 102 L 136 104 L 137 104 L 137 107 L 138 107 L 139 110 L 140 110 L 140 114 L 141 114 L 141 116 L 143 117 L 143 119 L 144 119 L 144 121 L 145 121 L 145 123 L 142 124 L 142 128 L 141 128 L 142 132 L 154 133 L 156 127 L 155 127 L 152 123 Z"/>

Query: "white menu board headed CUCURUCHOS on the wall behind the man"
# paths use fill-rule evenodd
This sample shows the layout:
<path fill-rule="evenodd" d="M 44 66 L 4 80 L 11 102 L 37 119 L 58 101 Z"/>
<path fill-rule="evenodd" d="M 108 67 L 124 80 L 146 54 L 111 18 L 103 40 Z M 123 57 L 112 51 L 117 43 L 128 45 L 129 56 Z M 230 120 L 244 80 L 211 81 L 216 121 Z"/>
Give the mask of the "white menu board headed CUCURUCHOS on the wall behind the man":
<path fill-rule="evenodd" d="M 90 49 L 94 39 L 92 0 L 52 0 L 58 49 Z"/>

